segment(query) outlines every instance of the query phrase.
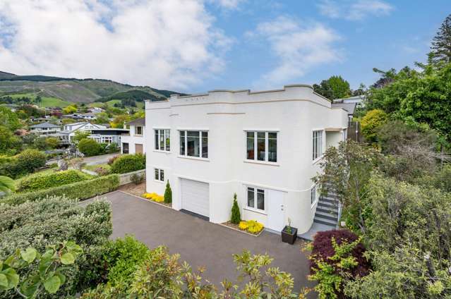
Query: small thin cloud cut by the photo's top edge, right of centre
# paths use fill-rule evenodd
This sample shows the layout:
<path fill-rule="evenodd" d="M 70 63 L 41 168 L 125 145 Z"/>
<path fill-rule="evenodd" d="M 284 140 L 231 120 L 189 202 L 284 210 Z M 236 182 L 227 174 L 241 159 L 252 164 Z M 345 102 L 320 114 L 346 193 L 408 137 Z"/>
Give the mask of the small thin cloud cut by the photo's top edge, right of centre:
<path fill-rule="evenodd" d="M 322 0 L 320 13 L 329 18 L 363 20 L 368 16 L 386 16 L 394 7 L 382 0 Z"/>

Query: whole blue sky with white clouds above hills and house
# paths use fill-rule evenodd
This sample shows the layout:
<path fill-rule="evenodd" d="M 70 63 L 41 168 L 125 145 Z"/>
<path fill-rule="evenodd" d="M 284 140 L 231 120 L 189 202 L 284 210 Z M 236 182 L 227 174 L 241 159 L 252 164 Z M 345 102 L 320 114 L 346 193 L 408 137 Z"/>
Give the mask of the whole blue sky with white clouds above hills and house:
<path fill-rule="evenodd" d="M 0 0 L 0 71 L 196 93 L 426 61 L 451 0 Z"/>

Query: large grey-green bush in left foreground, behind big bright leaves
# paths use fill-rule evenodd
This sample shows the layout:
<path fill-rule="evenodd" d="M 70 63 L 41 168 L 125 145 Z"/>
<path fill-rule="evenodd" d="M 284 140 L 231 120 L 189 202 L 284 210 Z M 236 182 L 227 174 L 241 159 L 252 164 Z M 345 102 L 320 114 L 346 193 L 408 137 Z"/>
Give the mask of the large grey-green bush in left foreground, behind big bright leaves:
<path fill-rule="evenodd" d="M 75 200 L 52 197 L 22 205 L 0 205 L 0 260 L 13 254 L 16 248 L 32 247 L 42 252 L 47 245 L 72 240 L 85 255 L 78 257 L 75 267 L 66 269 L 66 282 L 52 298 L 68 298 L 89 285 L 83 285 L 85 273 L 90 271 L 91 255 L 107 242 L 112 233 L 111 209 L 107 202 L 95 201 L 81 207 Z M 40 264 L 32 263 L 20 272 L 29 276 Z M 91 277 L 98 283 L 100 277 Z M 12 293 L 0 292 L 0 298 L 16 298 Z M 40 294 L 40 298 L 49 298 Z"/>

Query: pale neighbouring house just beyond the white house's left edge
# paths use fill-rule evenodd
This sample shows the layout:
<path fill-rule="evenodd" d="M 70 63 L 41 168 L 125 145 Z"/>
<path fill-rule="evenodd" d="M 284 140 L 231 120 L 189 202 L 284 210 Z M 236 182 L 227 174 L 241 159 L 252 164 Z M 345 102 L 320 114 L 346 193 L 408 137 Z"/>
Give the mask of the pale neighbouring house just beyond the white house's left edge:
<path fill-rule="evenodd" d="M 145 152 L 145 118 L 138 118 L 126 123 L 130 127 L 130 134 L 122 136 L 121 153 L 138 154 Z"/>

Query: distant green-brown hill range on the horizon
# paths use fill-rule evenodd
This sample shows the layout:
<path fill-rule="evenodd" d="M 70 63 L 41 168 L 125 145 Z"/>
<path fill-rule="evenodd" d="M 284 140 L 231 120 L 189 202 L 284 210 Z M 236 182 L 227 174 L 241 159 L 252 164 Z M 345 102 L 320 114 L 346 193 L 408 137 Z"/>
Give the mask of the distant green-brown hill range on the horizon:
<path fill-rule="evenodd" d="M 158 101 L 171 94 L 171 90 L 157 90 L 148 86 L 133 86 L 104 79 L 59 78 L 45 75 L 15 75 L 0 71 L 0 97 L 24 96 L 61 99 L 63 102 L 92 103 L 121 101 Z"/>

